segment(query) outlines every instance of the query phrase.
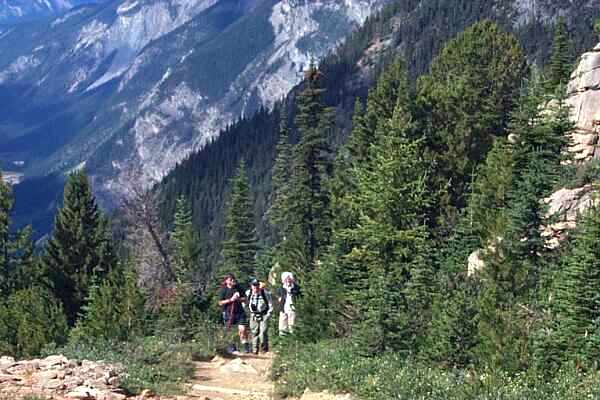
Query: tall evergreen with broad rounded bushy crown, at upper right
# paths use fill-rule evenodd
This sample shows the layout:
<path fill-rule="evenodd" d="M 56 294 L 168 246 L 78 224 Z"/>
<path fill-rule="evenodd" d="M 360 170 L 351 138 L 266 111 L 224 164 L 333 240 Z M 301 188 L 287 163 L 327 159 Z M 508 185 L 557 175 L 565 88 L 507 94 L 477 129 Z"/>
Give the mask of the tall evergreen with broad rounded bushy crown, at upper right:
<path fill-rule="evenodd" d="M 490 21 L 451 40 L 417 82 L 442 228 L 453 227 L 466 205 L 472 174 L 506 121 L 526 71 L 518 40 Z"/>

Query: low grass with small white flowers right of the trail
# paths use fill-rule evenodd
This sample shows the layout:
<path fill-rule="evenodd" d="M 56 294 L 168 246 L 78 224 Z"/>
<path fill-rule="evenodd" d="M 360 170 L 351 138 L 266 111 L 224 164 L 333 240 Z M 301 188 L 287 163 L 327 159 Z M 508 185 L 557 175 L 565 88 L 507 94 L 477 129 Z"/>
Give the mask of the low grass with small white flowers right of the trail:
<path fill-rule="evenodd" d="M 534 373 L 508 375 L 444 370 L 395 354 L 363 358 L 352 344 L 293 344 L 277 351 L 276 390 L 299 396 L 306 388 L 353 393 L 359 399 L 578 400 L 600 398 L 600 373 L 564 370 L 546 380 Z"/>

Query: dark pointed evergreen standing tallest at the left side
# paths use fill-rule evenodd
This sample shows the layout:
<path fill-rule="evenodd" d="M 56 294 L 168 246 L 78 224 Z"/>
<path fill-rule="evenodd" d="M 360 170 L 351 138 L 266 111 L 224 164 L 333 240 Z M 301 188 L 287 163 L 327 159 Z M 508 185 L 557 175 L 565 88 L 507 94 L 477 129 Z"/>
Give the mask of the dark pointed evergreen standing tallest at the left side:
<path fill-rule="evenodd" d="M 69 175 L 63 205 L 42 256 L 54 293 L 74 324 L 95 277 L 106 276 L 115 262 L 108 223 L 101 216 L 83 171 Z"/>

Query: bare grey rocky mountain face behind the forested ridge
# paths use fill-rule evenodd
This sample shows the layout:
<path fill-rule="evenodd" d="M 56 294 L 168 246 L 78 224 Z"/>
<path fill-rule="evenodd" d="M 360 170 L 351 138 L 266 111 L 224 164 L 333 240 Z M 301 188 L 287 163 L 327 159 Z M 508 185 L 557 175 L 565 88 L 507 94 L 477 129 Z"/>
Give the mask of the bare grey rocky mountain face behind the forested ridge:
<path fill-rule="evenodd" d="M 285 96 L 385 1 L 113 0 L 11 28 L 0 155 L 27 176 L 86 165 L 111 195 L 149 184 Z"/>

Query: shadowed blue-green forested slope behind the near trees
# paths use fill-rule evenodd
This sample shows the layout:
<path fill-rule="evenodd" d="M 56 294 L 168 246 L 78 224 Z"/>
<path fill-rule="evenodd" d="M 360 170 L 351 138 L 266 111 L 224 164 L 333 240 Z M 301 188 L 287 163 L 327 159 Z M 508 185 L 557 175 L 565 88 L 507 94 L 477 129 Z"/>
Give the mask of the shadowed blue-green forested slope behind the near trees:
<path fill-rule="evenodd" d="M 540 2 L 533 9 L 520 9 L 517 3 L 511 2 L 393 2 L 369 18 L 362 29 L 351 35 L 319 67 L 324 102 L 334 106 L 336 112 L 336 127 L 328 138 L 330 145 L 337 148 L 346 141 L 355 100 L 364 101 L 370 85 L 395 57 L 405 60 L 411 78 L 409 86 L 413 88 L 414 78 L 428 71 L 431 60 L 447 40 L 474 22 L 490 18 L 515 33 L 530 65 L 541 66 L 550 54 L 551 17 L 559 10 L 567 15 L 565 57 L 569 62 L 575 62 L 576 54 L 595 44 L 592 26 L 598 8 L 594 8 L 594 2 Z M 440 79 L 444 71 L 438 75 L 432 79 Z M 205 149 L 182 162 L 160 184 L 163 221 L 167 225 L 171 223 L 175 200 L 179 196 L 188 198 L 194 210 L 195 224 L 205 232 L 208 261 L 212 267 L 219 260 L 223 238 L 221 227 L 227 182 L 241 159 L 249 166 L 259 240 L 269 243 L 271 233 L 264 216 L 269 203 L 270 170 L 279 137 L 281 108 L 288 109 L 290 140 L 296 142 L 296 128 L 292 123 L 296 113 L 294 99 L 302 87 L 292 91 L 272 112 L 261 110 L 229 127 Z"/>

